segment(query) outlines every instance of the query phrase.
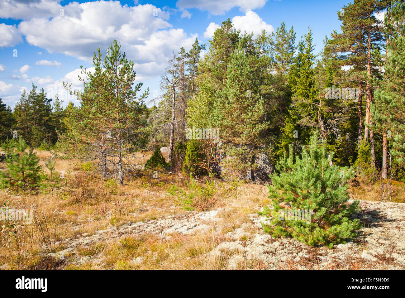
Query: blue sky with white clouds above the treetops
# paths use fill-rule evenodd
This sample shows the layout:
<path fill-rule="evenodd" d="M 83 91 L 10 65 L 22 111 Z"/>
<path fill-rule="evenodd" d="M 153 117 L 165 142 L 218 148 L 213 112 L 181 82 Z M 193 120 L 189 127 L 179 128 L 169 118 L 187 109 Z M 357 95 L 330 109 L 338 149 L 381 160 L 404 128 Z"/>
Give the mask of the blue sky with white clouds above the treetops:
<path fill-rule="evenodd" d="M 105 52 L 118 39 L 135 62 L 138 81 L 157 97 L 160 75 L 170 54 L 188 50 L 196 37 L 208 45 L 213 30 L 226 19 L 242 31 L 268 32 L 284 21 L 294 26 L 296 42 L 309 26 L 323 47 L 325 35 L 340 29 L 337 11 L 348 0 L 177 0 L 177 1 L 75 1 L 1 0 L 0 98 L 14 107 L 32 82 L 77 103 L 62 81 L 81 89 L 80 66 L 91 70 L 92 56 Z M 148 105 L 152 105 L 149 103 Z"/>

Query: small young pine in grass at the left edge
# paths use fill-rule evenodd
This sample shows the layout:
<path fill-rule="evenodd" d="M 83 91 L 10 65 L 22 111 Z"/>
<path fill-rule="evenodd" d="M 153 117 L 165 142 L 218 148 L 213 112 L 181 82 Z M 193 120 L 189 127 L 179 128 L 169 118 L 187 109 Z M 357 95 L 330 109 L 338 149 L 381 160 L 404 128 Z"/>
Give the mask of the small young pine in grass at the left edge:
<path fill-rule="evenodd" d="M 34 189 L 40 186 L 39 158 L 32 148 L 26 152 L 28 144 L 19 137 L 18 142 L 14 139 L 4 144 L 3 150 L 8 157 L 5 160 L 6 171 L 0 174 L 2 188 L 11 189 Z"/>

